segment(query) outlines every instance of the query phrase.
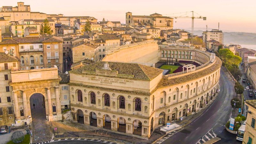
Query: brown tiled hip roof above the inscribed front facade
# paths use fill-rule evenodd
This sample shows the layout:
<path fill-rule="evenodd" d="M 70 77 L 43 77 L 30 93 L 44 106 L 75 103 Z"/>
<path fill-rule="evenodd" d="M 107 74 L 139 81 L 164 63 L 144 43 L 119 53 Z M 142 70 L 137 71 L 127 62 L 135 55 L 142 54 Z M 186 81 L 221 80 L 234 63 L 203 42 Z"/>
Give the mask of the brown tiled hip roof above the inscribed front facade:
<path fill-rule="evenodd" d="M 86 65 L 82 68 L 75 69 L 71 73 L 82 74 L 84 70 L 96 71 L 96 69 L 102 69 L 105 61 L 98 61 L 90 65 Z M 111 70 L 118 71 L 118 74 L 133 75 L 133 79 L 150 81 L 154 77 L 158 76 L 163 70 L 153 67 L 148 67 L 135 63 L 123 63 L 123 62 L 108 62 Z"/>

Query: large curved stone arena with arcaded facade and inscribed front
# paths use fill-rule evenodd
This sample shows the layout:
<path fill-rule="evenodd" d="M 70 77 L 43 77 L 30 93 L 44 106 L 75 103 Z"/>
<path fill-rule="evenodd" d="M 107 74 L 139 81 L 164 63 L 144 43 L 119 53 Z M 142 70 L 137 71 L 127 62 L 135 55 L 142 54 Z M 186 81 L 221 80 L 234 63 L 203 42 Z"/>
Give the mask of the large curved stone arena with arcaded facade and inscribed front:
<path fill-rule="evenodd" d="M 148 44 L 151 49 L 154 47 L 154 42 L 145 43 Z M 201 66 L 190 72 L 163 75 L 163 70 L 154 65 L 145 66 L 157 61 L 155 58 L 150 59 L 149 55 L 139 64 L 138 57 L 128 53 L 144 49 L 140 43 L 116 47 L 106 52 L 102 61 L 70 72 L 74 121 L 150 137 L 155 128 L 194 114 L 215 96 L 221 67 L 221 60 L 215 55 L 188 48 L 194 55 L 191 61 Z M 123 62 L 105 62 L 115 55 Z"/>

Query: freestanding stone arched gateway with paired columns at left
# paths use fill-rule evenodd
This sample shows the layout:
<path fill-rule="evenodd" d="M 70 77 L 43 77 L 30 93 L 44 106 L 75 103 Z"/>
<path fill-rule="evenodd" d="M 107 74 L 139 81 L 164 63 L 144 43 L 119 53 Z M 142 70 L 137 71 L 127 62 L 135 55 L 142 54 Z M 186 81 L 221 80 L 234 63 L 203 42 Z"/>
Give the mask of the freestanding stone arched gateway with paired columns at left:
<path fill-rule="evenodd" d="M 62 119 L 57 67 L 12 71 L 11 76 L 17 126 L 33 122 L 37 109 L 49 121 Z"/>

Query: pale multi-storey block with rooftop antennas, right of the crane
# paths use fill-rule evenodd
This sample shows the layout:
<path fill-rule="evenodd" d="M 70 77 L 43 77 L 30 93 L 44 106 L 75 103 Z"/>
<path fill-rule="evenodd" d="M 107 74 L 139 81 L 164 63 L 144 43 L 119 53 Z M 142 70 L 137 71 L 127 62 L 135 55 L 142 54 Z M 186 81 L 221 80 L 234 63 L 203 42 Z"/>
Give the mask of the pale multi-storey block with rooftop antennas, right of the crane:
<path fill-rule="evenodd" d="M 222 30 L 212 29 L 211 31 L 203 31 L 203 42 L 206 44 L 209 40 L 216 40 L 223 44 L 224 42 L 224 34 Z"/>

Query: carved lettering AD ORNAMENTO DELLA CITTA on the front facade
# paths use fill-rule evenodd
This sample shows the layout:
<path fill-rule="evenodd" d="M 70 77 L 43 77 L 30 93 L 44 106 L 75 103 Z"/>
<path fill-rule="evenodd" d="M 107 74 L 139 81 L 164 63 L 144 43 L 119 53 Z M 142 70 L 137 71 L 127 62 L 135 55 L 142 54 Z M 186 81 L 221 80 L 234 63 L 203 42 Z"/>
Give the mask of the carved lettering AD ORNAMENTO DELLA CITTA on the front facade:
<path fill-rule="evenodd" d="M 133 83 L 133 80 L 123 80 L 118 78 L 106 78 L 106 77 L 97 77 L 97 76 L 82 76 L 88 78 L 88 80 L 92 80 L 95 82 L 99 82 L 100 84 L 128 84 Z"/>

